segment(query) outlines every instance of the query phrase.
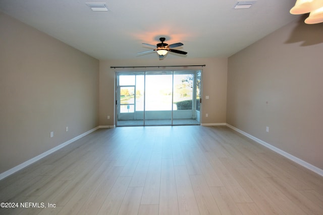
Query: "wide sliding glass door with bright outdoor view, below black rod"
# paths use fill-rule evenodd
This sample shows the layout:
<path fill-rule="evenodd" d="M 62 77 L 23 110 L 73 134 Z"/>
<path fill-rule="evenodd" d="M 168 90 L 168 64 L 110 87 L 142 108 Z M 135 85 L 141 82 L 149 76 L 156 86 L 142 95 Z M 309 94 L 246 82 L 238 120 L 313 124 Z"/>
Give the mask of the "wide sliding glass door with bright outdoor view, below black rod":
<path fill-rule="evenodd" d="M 200 124 L 201 71 L 117 72 L 117 126 Z"/>

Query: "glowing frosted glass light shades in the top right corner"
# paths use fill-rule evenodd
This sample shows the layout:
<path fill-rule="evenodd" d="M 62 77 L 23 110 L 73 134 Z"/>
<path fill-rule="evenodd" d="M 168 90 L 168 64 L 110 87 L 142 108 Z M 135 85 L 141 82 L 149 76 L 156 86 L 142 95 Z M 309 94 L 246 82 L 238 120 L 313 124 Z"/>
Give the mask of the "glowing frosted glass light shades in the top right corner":
<path fill-rule="evenodd" d="M 291 14 L 307 14 L 306 24 L 323 22 L 323 0 L 297 0 L 295 6 L 290 10 Z"/>

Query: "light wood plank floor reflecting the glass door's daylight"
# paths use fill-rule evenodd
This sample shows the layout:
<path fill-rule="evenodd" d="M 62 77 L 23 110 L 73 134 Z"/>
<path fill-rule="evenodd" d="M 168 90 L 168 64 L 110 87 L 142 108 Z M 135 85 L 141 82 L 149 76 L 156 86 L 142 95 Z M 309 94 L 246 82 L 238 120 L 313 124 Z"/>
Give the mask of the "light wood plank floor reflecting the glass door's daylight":
<path fill-rule="evenodd" d="M 99 129 L 0 181 L 0 214 L 323 214 L 323 177 L 227 127 Z"/>

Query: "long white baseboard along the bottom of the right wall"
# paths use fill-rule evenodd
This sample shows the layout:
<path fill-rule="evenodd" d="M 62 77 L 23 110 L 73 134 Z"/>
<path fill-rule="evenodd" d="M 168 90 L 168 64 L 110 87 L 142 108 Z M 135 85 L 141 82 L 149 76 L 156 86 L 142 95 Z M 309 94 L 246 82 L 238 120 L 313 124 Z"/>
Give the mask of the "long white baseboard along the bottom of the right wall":
<path fill-rule="evenodd" d="M 230 125 L 228 123 L 226 123 L 226 125 L 229 128 L 232 128 L 233 130 L 235 130 L 235 131 L 245 135 L 246 137 L 249 137 L 250 139 L 258 142 L 258 144 L 261 144 L 262 146 L 264 146 L 264 147 L 266 147 L 266 148 L 268 148 L 270 150 L 273 150 L 274 152 L 277 152 L 278 154 L 280 154 L 280 155 L 288 158 L 289 160 L 292 160 L 295 163 L 297 163 L 297 164 L 299 164 L 299 165 L 301 165 L 301 166 L 303 166 L 303 167 L 317 173 L 318 175 L 323 176 L 323 170 L 319 169 L 318 167 L 315 167 L 315 166 L 313 166 L 313 165 L 311 165 L 311 164 L 309 164 L 309 163 L 307 163 L 307 162 L 305 162 L 305 161 L 303 161 L 303 160 L 301 160 L 301 159 L 299 159 L 299 158 L 297 158 L 297 157 L 295 157 L 295 156 L 293 156 L 291 154 L 288 154 L 287 152 L 285 152 L 285 151 L 283 151 L 281 149 L 278 149 L 278 148 L 268 144 L 267 142 L 262 141 L 261 139 L 258 139 L 257 137 L 254 137 L 254 136 L 252 136 L 252 135 L 250 135 L 250 134 L 248 134 L 248 133 L 246 133 L 246 132 L 244 132 L 244 131 L 242 131 L 242 130 L 240 130 L 240 129 L 238 129 L 238 128 L 236 128 L 236 127 L 234 127 L 234 126 L 232 126 L 232 125 Z"/>

